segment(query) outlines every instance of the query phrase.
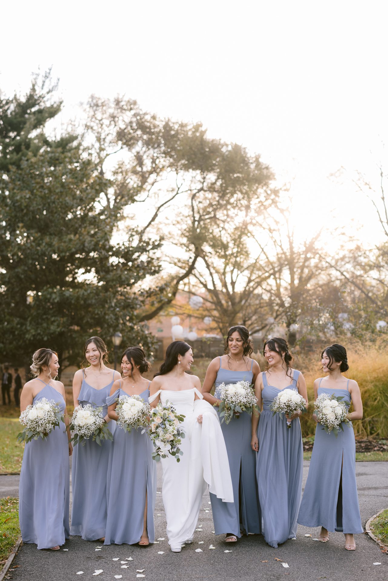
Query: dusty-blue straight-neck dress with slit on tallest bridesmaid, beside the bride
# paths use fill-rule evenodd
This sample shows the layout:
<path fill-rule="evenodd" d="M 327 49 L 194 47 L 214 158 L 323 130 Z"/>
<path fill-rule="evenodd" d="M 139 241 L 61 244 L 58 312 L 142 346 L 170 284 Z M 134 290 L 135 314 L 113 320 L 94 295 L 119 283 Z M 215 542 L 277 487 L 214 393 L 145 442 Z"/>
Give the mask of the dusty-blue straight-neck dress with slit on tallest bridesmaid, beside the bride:
<path fill-rule="evenodd" d="M 215 381 L 215 397 L 219 398 L 221 383 L 237 383 L 253 379 L 253 360 L 250 371 L 232 371 L 220 367 Z M 229 424 L 221 424 L 232 476 L 234 503 L 223 503 L 215 494 L 210 494 L 216 535 L 232 533 L 241 537 L 241 532 L 259 534 L 260 505 L 255 478 L 255 453 L 251 448 L 251 415 L 243 412 L 239 418 L 233 417 Z"/>

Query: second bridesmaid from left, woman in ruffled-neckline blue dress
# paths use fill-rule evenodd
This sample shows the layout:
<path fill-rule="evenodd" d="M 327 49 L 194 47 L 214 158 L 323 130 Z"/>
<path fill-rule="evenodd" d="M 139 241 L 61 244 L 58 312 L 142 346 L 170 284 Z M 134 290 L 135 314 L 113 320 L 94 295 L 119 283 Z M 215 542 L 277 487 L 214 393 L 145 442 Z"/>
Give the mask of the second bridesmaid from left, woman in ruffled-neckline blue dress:
<path fill-rule="evenodd" d="M 76 371 L 73 379 L 74 407 L 102 406 L 106 422 L 108 406 L 106 398 L 111 392 L 113 381 L 120 379 L 118 371 L 104 365 L 108 363 L 108 349 L 102 339 L 91 337 L 84 346 L 84 361 L 88 367 Z M 115 422 L 109 426 L 114 432 Z M 101 446 L 87 440 L 85 446 L 74 447 L 72 465 L 72 526 L 71 535 L 80 535 L 84 540 L 105 539 L 106 526 L 106 472 L 108 471 L 111 440 L 104 440 Z"/>

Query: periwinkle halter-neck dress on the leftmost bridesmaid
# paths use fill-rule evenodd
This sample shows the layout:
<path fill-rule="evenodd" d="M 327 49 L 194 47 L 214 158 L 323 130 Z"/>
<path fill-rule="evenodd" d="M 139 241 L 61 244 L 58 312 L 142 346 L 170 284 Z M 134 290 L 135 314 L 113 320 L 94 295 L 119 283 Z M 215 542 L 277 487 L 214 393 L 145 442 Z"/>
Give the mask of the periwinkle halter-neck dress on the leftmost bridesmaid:
<path fill-rule="evenodd" d="M 44 383 L 34 403 L 42 397 L 59 403 L 60 411 L 65 411 L 62 394 L 49 383 Z M 69 446 L 66 426 L 60 422 L 47 439 L 31 440 L 24 447 L 19 483 L 23 543 L 35 543 L 38 548 L 63 545 L 69 538 L 69 498 Z"/>

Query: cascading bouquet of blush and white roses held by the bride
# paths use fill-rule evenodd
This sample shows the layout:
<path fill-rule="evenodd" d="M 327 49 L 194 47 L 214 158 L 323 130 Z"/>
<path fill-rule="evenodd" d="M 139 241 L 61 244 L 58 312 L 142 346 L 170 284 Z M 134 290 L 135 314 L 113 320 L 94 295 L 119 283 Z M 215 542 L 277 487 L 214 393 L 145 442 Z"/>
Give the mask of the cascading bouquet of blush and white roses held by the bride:
<path fill-rule="evenodd" d="M 161 458 L 175 456 L 177 462 L 179 456 L 183 456 L 180 449 L 181 440 L 184 438 L 184 431 L 180 428 L 184 415 L 177 414 L 175 407 L 166 401 L 166 405 L 158 405 L 151 410 L 148 435 L 154 444 L 155 451 L 152 452 L 152 458 L 159 461 Z"/>

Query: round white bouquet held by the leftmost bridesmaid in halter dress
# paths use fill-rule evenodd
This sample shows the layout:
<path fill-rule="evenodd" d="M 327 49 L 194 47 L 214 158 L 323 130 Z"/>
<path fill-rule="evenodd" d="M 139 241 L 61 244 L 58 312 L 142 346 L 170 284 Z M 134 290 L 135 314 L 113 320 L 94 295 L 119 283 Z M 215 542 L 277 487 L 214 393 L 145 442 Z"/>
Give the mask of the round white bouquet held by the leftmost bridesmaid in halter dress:
<path fill-rule="evenodd" d="M 37 440 L 38 437 L 45 440 L 52 429 L 59 426 L 61 418 L 59 404 L 42 397 L 35 404 L 27 406 L 20 414 L 20 424 L 25 427 L 23 432 L 17 434 L 17 441 L 30 442 Z"/>

